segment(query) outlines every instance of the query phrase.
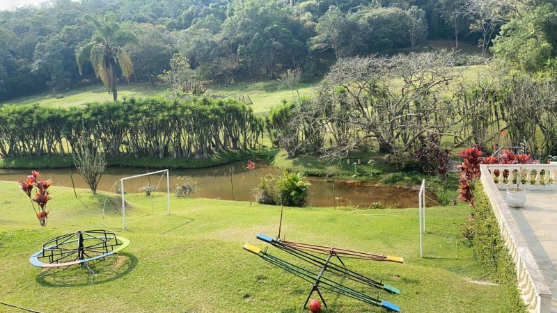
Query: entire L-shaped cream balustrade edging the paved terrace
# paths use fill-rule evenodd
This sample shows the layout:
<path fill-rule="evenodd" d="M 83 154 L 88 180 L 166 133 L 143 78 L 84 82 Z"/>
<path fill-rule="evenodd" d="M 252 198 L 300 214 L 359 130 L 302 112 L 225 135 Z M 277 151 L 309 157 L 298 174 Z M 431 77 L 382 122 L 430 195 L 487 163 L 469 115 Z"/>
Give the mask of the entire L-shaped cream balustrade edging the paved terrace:
<path fill-rule="evenodd" d="M 521 289 L 521 296 L 528 307 L 528 312 L 549 313 L 551 312 L 551 289 L 549 289 L 540 267 L 535 262 L 534 256 L 528 248 L 528 242 L 520 232 L 517 221 L 512 218 L 503 195 L 499 191 L 499 189 L 516 186 L 512 184 L 512 181 L 511 184 L 508 184 L 508 179 L 512 178 L 504 179 L 503 171 L 508 170 L 510 172 L 508 177 L 513 177 L 512 171 L 520 169 L 531 172 L 526 177 L 526 184 L 521 184 L 521 188 L 529 190 L 557 189 L 555 183 L 557 166 L 554 165 L 482 165 L 480 166 L 481 182 L 499 223 L 505 247 L 509 250 L 512 261 L 517 266 L 518 287 Z M 496 170 L 499 170 L 499 172 Z M 535 173 L 534 176 L 533 173 Z M 553 181 L 550 180 L 550 177 L 553 177 Z"/>

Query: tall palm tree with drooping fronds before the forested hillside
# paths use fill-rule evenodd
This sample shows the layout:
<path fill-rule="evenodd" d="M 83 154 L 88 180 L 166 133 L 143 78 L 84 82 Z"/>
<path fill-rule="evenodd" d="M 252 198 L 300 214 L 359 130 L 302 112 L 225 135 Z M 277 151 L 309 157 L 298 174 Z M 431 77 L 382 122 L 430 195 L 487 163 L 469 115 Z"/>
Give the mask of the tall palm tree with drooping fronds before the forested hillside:
<path fill-rule="evenodd" d="M 86 15 L 91 20 L 95 30 L 90 39 L 84 40 L 75 49 L 75 60 L 79 66 L 79 74 L 83 74 L 82 67 L 89 60 L 93 70 L 104 86 L 112 93 L 114 101 L 118 98 L 116 90 L 116 65 L 120 65 L 122 75 L 130 79 L 134 73 L 132 58 L 122 48 L 123 45 L 137 41 L 136 36 L 130 31 L 120 28 L 116 16 L 109 13 L 95 19 Z"/>

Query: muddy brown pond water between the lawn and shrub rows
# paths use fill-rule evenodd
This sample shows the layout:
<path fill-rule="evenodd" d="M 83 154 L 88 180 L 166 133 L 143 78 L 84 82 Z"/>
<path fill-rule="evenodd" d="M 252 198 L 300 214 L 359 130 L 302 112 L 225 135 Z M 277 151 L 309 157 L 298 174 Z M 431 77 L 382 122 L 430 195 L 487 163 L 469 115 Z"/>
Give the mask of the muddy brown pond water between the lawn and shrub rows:
<path fill-rule="evenodd" d="M 40 169 L 38 169 L 40 170 Z M 233 171 L 232 182 L 230 182 L 230 171 Z M 150 170 L 151 172 L 155 170 Z M 20 178 L 29 175 L 29 170 L 1 170 L 0 180 L 17 182 Z M 71 187 L 70 172 L 68 169 L 45 169 L 40 170 L 42 177 L 52 179 L 56 186 Z M 139 175 L 148 172 L 146 168 L 107 168 L 100 180 L 98 189 L 101 191 L 115 191 L 114 184 L 122 177 Z M 260 179 L 267 174 L 278 175 L 280 172 L 273 166 L 261 166 L 253 170 L 250 178 L 249 170 L 244 163 L 235 163 L 227 166 L 214 168 L 203 168 L 196 170 L 170 170 L 171 188 L 177 183 L 178 176 L 187 175 L 194 178 L 198 185 L 195 197 L 212 198 L 221 200 L 248 200 L 250 179 L 251 184 L 256 186 Z M 72 177 L 76 188 L 88 188 L 76 172 L 72 171 Z M 152 186 L 159 185 L 159 191 L 166 191 L 166 176 L 149 176 Z M 334 207 L 335 199 L 337 206 L 359 206 L 370 207 L 374 202 L 381 202 L 383 207 L 418 207 L 418 191 L 411 188 L 395 188 L 386 186 L 375 186 L 375 184 L 360 182 L 331 181 L 311 177 L 311 194 L 309 205 L 313 207 Z M 125 181 L 125 192 L 139 192 L 141 186 L 148 183 L 147 177 L 128 179 Z"/>

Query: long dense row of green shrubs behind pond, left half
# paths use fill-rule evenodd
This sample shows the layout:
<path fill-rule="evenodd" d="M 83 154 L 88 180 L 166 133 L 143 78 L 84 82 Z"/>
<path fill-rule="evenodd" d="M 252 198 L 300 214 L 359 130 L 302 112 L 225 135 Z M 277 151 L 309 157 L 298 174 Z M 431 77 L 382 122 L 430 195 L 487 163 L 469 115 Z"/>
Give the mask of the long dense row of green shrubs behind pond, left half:
<path fill-rule="evenodd" d="M 256 147 L 262 134 L 262 120 L 231 100 L 124 99 L 70 109 L 0 108 L 1 157 L 65 155 L 84 137 L 109 157 L 205 158 L 219 150 Z"/>

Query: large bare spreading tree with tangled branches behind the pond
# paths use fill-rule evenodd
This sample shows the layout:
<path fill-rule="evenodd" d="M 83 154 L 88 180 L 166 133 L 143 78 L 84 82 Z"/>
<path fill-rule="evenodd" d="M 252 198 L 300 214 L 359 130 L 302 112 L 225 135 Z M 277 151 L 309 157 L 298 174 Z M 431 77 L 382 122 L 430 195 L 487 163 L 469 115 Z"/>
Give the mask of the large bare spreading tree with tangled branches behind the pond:
<path fill-rule="evenodd" d="M 399 159 L 414 148 L 421 134 L 450 134 L 467 113 L 455 88 L 462 69 L 453 52 L 341 59 L 331 67 L 318 97 L 332 106 L 329 126 L 351 131 L 331 153 L 355 150 L 374 138 L 379 151 Z"/>

